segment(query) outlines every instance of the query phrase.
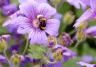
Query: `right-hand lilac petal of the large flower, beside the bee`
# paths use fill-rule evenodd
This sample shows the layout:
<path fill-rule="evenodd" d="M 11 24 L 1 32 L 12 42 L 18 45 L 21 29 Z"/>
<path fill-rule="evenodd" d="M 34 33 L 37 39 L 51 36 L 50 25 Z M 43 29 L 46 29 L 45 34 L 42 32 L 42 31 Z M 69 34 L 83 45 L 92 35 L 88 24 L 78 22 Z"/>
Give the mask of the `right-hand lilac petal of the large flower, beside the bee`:
<path fill-rule="evenodd" d="M 50 35 L 57 36 L 60 26 L 60 21 L 57 19 L 49 19 L 47 21 L 46 32 Z"/>

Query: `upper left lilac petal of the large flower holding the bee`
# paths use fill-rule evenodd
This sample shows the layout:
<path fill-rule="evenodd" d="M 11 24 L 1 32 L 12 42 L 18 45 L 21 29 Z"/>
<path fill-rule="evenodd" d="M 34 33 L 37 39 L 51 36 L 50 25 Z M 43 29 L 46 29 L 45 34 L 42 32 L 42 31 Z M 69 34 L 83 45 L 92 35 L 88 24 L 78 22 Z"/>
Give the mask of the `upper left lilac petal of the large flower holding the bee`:
<path fill-rule="evenodd" d="M 37 7 L 38 7 L 38 3 L 36 3 L 36 2 L 22 3 L 20 5 L 20 12 L 22 14 L 25 14 L 29 19 L 32 20 L 32 19 L 36 18 Z"/>

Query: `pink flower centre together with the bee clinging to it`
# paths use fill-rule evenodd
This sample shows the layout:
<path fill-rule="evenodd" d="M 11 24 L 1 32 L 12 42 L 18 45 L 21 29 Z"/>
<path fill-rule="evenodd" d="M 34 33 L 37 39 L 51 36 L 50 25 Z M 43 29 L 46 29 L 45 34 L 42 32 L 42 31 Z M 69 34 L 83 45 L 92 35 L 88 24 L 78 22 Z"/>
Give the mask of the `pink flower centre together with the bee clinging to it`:
<path fill-rule="evenodd" d="M 33 26 L 35 28 L 39 28 L 40 30 L 45 30 L 46 22 L 47 22 L 47 19 L 44 16 L 38 15 L 37 18 L 33 20 Z"/>

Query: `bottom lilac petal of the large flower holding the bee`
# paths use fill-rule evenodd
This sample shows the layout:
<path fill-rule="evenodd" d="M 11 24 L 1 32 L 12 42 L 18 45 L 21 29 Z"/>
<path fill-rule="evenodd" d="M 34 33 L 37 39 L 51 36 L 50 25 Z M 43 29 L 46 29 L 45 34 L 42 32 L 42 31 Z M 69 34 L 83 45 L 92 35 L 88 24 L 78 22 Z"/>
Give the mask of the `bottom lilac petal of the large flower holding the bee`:
<path fill-rule="evenodd" d="M 44 31 L 33 30 L 29 34 L 31 44 L 47 45 L 47 36 Z"/>

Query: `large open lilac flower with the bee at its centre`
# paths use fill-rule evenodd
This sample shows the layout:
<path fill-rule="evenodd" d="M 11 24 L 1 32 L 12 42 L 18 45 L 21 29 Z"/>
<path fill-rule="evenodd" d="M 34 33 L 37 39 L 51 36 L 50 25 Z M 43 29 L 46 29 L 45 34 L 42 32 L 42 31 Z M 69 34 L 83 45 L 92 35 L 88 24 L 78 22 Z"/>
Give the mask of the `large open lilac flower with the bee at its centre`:
<path fill-rule="evenodd" d="M 31 44 L 47 44 L 47 35 L 58 35 L 60 21 L 54 18 L 56 9 L 47 3 L 22 3 L 20 13 L 8 25 L 18 26 L 18 33 L 28 34 Z"/>

